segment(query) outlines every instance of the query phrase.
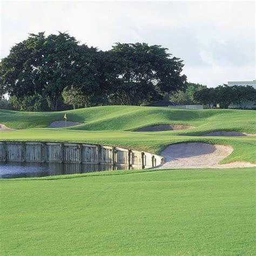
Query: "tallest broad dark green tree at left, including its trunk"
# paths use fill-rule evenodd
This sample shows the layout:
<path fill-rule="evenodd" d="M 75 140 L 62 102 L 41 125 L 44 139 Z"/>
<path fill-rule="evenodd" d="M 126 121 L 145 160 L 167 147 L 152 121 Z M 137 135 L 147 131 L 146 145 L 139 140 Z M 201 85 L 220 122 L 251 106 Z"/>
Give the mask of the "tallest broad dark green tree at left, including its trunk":
<path fill-rule="evenodd" d="M 68 33 L 46 37 L 44 32 L 30 34 L 16 44 L 0 67 L 1 87 L 10 96 L 44 94 L 57 110 L 64 87 L 71 86 L 81 58 L 80 48 Z M 85 63 L 86 65 L 86 63 Z"/>

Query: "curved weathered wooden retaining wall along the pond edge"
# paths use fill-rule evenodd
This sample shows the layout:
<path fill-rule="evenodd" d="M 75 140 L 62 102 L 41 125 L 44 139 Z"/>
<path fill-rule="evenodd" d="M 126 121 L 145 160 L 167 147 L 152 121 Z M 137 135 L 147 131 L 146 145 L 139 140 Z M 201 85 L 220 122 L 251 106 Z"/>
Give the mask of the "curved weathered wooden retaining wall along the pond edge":
<path fill-rule="evenodd" d="M 57 142 L 0 142 L 0 161 L 126 165 L 151 168 L 163 157 L 147 152 L 96 144 Z"/>

